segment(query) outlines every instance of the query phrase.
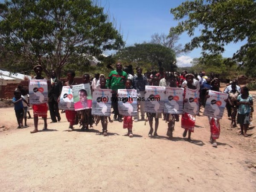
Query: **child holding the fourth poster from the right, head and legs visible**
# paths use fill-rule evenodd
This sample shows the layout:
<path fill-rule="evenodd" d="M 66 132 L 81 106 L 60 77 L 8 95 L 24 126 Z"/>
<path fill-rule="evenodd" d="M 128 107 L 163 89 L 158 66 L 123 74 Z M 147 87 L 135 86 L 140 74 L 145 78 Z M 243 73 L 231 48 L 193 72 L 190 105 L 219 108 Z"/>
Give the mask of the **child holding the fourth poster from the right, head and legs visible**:
<path fill-rule="evenodd" d="M 159 78 L 157 76 L 153 76 L 152 78 L 152 86 L 159 86 Z M 157 135 L 157 129 L 159 125 L 159 118 L 162 118 L 161 113 L 147 113 L 150 131 L 148 132 L 148 137 L 152 137 L 154 131 L 154 137 L 159 138 Z M 153 129 L 153 118 L 155 118 L 155 129 Z"/>

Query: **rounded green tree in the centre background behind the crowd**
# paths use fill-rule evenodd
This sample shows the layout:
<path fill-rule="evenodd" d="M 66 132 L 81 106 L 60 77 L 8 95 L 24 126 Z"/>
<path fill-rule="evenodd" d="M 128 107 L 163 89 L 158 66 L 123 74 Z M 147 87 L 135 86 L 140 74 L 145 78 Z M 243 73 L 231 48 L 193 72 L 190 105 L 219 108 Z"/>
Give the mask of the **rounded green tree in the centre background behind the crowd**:
<path fill-rule="evenodd" d="M 136 66 L 164 67 L 165 70 L 174 71 L 176 66 L 175 53 L 160 44 L 134 44 L 125 47 L 116 53 L 116 59 Z"/>

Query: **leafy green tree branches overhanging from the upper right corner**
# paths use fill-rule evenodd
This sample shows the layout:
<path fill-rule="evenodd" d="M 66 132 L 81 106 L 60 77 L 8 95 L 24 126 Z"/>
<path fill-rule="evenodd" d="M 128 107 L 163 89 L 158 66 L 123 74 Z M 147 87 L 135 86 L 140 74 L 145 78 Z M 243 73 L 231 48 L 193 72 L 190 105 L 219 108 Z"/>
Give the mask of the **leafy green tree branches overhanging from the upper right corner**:
<path fill-rule="evenodd" d="M 171 9 L 175 20 L 181 20 L 170 33 L 180 35 L 187 32 L 193 37 L 185 50 L 202 48 L 207 54 L 219 55 L 229 43 L 246 41 L 240 49 L 225 62 L 229 64 L 254 66 L 256 63 L 256 3 L 255 0 L 195 0 L 185 1 Z M 195 29 L 201 35 L 194 36 Z"/>

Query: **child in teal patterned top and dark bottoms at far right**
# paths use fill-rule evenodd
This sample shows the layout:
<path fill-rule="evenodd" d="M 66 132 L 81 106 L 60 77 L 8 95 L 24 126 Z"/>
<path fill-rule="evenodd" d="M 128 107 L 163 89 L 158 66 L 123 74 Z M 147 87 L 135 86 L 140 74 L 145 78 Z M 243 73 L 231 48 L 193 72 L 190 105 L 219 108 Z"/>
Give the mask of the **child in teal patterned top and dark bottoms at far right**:
<path fill-rule="evenodd" d="M 248 137 L 247 130 L 250 124 L 250 106 L 253 106 L 253 97 L 249 94 L 249 89 L 247 87 L 241 88 L 241 95 L 237 97 L 237 105 L 237 123 L 240 124 L 241 135 Z"/>

